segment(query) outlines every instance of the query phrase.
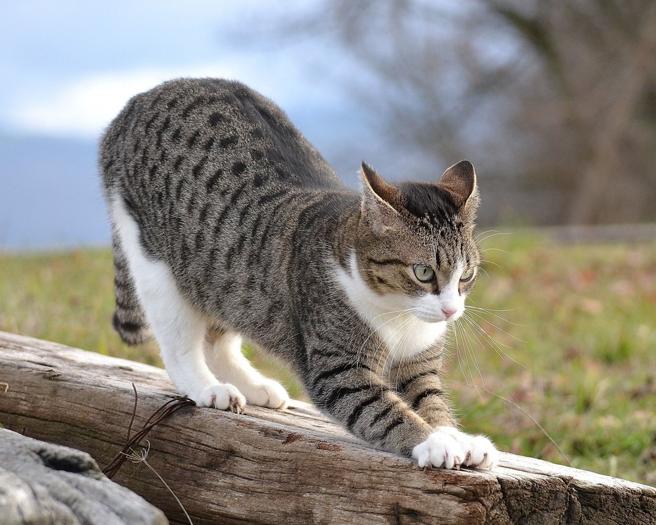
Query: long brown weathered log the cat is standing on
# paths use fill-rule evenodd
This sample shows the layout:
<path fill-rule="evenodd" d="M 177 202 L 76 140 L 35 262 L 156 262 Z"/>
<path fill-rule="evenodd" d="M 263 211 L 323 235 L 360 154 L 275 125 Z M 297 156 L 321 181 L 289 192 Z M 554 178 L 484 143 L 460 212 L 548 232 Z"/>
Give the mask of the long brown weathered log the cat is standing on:
<path fill-rule="evenodd" d="M 165 371 L 0 332 L 0 422 L 89 452 L 103 466 L 174 395 Z M 246 415 L 182 408 L 148 436 L 150 465 L 195 525 L 656 524 L 656 489 L 502 454 L 492 472 L 422 471 L 373 450 L 308 406 Z M 114 480 L 186 522 L 144 466 Z"/>

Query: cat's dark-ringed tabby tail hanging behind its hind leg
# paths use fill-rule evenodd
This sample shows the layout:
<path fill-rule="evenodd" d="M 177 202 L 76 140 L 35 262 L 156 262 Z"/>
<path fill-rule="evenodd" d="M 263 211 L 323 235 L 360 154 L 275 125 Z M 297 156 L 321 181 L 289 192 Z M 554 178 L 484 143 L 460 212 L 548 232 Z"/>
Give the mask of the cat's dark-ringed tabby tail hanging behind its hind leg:
<path fill-rule="evenodd" d="M 112 325 L 127 345 L 146 343 L 152 339 L 153 334 L 146 321 L 144 309 L 136 297 L 134 281 L 116 232 L 112 238 L 112 253 L 115 271 L 114 293 L 116 295 L 116 311 L 112 318 Z"/>

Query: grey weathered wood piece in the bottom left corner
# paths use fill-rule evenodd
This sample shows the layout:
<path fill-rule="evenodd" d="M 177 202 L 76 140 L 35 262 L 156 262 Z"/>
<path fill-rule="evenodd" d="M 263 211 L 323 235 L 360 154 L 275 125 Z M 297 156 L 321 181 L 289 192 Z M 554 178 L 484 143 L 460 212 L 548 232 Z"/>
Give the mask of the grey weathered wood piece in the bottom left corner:
<path fill-rule="evenodd" d="M 0 429 L 3 525 L 166 525 L 163 513 L 108 480 L 85 452 Z"/>

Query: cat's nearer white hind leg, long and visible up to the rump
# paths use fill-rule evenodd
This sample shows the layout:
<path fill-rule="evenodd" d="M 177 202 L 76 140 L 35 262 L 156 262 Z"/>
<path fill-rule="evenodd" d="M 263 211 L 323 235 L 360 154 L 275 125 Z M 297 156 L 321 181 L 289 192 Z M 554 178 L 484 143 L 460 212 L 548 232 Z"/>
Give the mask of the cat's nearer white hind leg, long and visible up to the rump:
<path fill-rule="evenodd" d="M 205 362 L 207 323 L 180 295 L 169 267 L 146 257 L 138 227 L 120 198 L 113 200 L 112 219 L 171 381 L 198 406 L 241 411 L 244 396 L 234 385 L 220 383 Z"/>

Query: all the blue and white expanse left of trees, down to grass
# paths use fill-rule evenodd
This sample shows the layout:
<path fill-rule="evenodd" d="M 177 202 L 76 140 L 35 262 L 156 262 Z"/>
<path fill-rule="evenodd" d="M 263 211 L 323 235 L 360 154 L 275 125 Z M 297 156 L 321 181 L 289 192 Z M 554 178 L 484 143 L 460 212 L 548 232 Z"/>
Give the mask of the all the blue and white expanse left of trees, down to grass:
<path fill-rule="evenodd" d="M 247 83 L 358 184 L 360 161 L 383 148 L 345 91 L 354 62 L 325 39 L 272 37 L 317 5 L 0 2 L 0 250 L 108 243 L 98 137 L 131 96 L 174 77 Z"/>

